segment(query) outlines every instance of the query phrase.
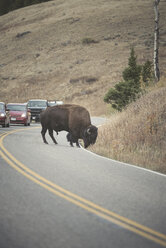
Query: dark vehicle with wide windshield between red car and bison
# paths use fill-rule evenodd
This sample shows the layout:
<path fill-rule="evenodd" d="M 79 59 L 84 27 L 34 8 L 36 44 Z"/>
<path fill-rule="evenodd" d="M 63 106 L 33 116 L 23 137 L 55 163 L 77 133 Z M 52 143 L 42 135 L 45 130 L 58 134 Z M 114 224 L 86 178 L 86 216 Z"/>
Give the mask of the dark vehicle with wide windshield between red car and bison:
<path fill-rule="evenodd" d="M 31 120 L 40 121 L 40 113 L 48 107 L 48 101 L 42 99 L 32 99 L 28 101 L 28 109 L 31 111 Z"/>

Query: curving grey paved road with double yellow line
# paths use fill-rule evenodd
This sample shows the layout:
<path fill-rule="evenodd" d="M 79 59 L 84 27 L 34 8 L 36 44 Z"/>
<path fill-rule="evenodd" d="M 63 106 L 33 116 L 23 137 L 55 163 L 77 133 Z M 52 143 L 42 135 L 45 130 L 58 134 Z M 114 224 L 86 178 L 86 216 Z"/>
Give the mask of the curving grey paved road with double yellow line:
<path fill-rule="evenodd" d="M 0 248 L 166 247 L 166 176 L 40 131 L 0 128 Z"/>

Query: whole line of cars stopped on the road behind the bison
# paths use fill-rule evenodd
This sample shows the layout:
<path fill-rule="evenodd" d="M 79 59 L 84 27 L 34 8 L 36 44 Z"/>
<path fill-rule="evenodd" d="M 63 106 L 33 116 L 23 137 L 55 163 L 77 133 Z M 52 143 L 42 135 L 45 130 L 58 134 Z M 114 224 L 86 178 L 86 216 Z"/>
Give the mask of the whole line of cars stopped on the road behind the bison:
<path fill-rule="evenodd" d="M 32 99 L 27 103 L 0 102 L 0 125 L 9 127 L 10 124 L 30 126 L 31 121 L 40 121 L 40 113 L 49 106 L 63 104 L 62 101 Z"/>

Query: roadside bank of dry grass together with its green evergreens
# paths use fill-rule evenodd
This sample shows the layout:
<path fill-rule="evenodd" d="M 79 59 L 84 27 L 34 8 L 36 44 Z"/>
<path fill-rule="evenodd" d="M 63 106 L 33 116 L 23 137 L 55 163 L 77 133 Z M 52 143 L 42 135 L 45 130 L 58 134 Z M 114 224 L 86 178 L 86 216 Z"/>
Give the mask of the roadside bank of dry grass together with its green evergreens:
<path fill-rule="evenodd" d="M 166 173 L 166 78 L 155 84 L 152 63 L 137 64 L 134 48 L 122 77 L 104 97 L 114 112 L 91 151 Z"/>

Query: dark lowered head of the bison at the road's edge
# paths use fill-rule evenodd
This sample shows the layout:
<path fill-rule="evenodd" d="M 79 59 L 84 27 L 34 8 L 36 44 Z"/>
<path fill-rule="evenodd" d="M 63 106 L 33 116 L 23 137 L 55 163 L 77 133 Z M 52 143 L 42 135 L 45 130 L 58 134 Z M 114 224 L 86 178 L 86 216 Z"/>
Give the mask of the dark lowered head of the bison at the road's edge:
<path fill-rule="evenodd" d="M 98 134 L 98 129 L 93 125 L 90 125 L 85 129 L 84 138 L 83 138 L 85 148 L 96 142 L 97 134 Z"/>

